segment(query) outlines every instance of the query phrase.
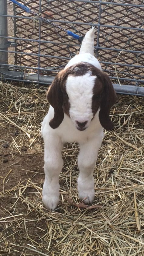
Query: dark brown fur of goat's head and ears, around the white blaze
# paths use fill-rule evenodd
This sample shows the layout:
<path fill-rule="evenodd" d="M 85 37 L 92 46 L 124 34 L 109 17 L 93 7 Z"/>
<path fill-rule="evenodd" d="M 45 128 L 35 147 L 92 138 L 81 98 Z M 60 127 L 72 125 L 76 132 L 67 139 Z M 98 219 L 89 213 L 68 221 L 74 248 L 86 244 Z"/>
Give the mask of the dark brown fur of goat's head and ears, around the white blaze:
<path fill-rule="evenodd" d="M 55 129 L 63 121 L 64 113 L 69 116 L 70 103 L 66 93 L 66 81 L 68 75 L 81 76 L 91 71 L 97 76 L 93 88 L 92 111 L 95 115 L 100 107 L 99 120 L 106 130 L 111 130 L 114 124 L 111 122 L 109 112 L 117 100 L 115 90 L 108 75 L 87 62 L 74 64 L 67 69 L 60 71 L 53 80 L 47 92 L 47 99 L 54 108 L 54 117 L 50 126 Z M 63 113 L 64 111 L 64 113 Z"/>

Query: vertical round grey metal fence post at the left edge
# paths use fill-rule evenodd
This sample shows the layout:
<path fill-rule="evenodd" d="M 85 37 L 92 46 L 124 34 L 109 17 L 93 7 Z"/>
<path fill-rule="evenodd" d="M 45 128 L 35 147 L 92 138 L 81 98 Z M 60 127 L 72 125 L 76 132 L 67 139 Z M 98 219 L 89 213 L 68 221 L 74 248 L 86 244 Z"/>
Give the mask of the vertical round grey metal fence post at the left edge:
<path fill-rule="evenodd" d="M 0 0 L 0 35 L 3 37 L 8 36 L 8 20 L 7 16 L 7 1 Z M 8 39 L 0 37 L 0 69 L 7 70 L 7 66 L 2 64 L 8 64 L 8 53 L 6 52 L 8 49 Z M 1 51 L 3 50 L 3 51 Z M 4 52 L 5 51 L 5 52 Z"/>

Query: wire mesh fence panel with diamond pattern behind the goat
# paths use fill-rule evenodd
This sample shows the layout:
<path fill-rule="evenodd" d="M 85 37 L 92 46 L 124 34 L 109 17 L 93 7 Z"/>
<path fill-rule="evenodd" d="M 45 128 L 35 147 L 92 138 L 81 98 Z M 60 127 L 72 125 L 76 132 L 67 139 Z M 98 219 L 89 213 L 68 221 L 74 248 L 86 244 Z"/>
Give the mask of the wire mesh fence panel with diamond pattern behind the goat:
<path fill-rule="evenodd" d="M 37 16 L 26 13 L 14 4 L 14 13 L 8 15 L 13 21 L 14 32 L 9 34 L 8 40 L 12 40 L 15 44 L 8 50 L 0 47 L 1 52 L 9 53 L 5 69 L 20 71 L 21 76 L 26 76 L 27 80 L 29 73 L 38 74 L 38 79 L 39 75 L 53 76 L 78 53 L 81 46 L 78 40 L 67 35 L 63 30 L 70 30 L 83 37 L 93 25 L 95 56 L 112 81 L 135 86 L 142 86 L 144 83 L 143 1 L 19 0 L 17 2 L 29 7 L 37 13 Z M 50 22 L 46 23 L 40 17 Z M 61 26 L 62 29 L 53 23 Z"/>

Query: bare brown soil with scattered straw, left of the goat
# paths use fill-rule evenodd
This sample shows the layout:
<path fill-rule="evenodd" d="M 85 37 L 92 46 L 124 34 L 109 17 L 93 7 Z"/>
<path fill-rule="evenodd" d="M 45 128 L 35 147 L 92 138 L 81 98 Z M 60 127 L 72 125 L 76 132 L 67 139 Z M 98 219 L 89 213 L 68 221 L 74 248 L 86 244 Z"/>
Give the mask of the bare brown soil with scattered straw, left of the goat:
<path fill-rule="evenodd" d="M 20 237 L 23 237 L 23 244 L 28 247 L 29 242 L 26 241 L 25 225 L 22 226 L 13 225 L 13 218 L 9 218 L 12 215 L 25 215 L 29 219 L 29 223 L 26 224 L 27 232 L 29 236 L 35 237 L 36 243 L 40 243 L 39 237 L 43 236 L 43 231 L 47 229 L 47 224 L 45 221 L 39 221 L 37 223 L 37 228 L 34 230 L 32 225 L 33 221 L 37 219 L 36 212 L 31 212 L 29 208 L 24 203 L 15 204 L 15 199 L 19 198 L 19 193 L 23 193 L 24 198 L 30 198 L 30 200 L 41 200 L 41 195 L 33 193 L 33 185 L 38 186 L 39 189 L 43 187 L 44 181 L 44 171 L 43 171 L 43 140 L 37 143 L 37 147 L 28 148 L 26 146 L 26 141 L 24 141 L 21 153 L 15 152 L 11 145 L 13 139 L 17 136 L 22 136 L 18 129 L 14 127 L 8 127 L 1 123 L 0 125 L 0 194 L 5 193 L 4 197 L 0 198 L 0 232 L 4 233 L 6 237 L 9 237 L 9 242 L 19 244 Z M 13 138 L 13 139 L 12 139 Z M 5 179 L 4 179 L 5 178 Z M 30 181 L 30 182 L 29 182 Z M 29 184 L 28 184 L 29 183 Z M 32 184 L 31 184 L 32 183 Z M 21 185 L 20 185 L 21 184 Z M 27 185 L 28 184 L 28 185 Z M 26 189 L 25 189 L 26 186 Z M 17 190 L 19 188 L 19 191 Z M 24 192 L 23 192 L 24 190 Z M 36 192 L 36 191 L 35 191 Z M 15 206 L 13 206 L 15 204 Z M 11 208 L 12 207 L 12 208 Z M 14 209 L 14 208 L 15 209 Z M 8 222 L 7 222 L 8 217 Z M 21 216 L 20 216 L 21 217 Z M 2 219 L 4 218 L 4 221 Z M 14 217 L 15 220 L 19 217 Z M 6 222 L 5 222 L 6 220 Z M 16 221 L 17 222 L 17 221 Z M 36 221 L 37 222 L 37 221 Z M 6 223 L 9 223 L 8 226 Z M 11 225 L 12 223 L 12 225 Z M 15 232 L 17 232 L 15 234 Z M 13 240 L 12 234 L 15 234 Z M 39 236 L 38 236 L 39 235 Z M 2 237 L 1 237 L 2 238 Z M 3 239 L 1 239 L 3 240 Z M 3 242 L 2 242 L 3 244 Z M 24 248 L 17 247 L 11 249 L 8 253 L 4 247 L 0 246 L 0 255 L 24 255 L 21 254 Z M 33 242 L 32 242 L 33 244 Z M 12 246 L 12 245 L 11 245 Z M 10 247 L 11 247 L 10 246 Z M 15 251 L 16 250 L 16 251 Z M 43 252 L 45 250 L 43 249 Z M 29 250 L 28 250 L 29 252 Z M 27 252 L 27 253 L 28 253 Z M 29 254 L 25 255 L 29 255 Z M 34 255 L 34 254 L 33 254 Z M 40 255 L 40 254 L 36 254 Z"/>

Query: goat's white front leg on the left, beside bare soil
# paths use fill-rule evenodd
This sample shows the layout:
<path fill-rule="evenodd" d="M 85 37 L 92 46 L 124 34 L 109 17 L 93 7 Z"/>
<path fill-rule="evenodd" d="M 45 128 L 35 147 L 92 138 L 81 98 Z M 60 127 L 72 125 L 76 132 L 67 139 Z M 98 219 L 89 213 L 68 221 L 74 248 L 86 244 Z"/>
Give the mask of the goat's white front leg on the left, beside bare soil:
<path fill-rule="evenodd" d="M 59 174 L 63 167 L 61 150 L 63 143 L 56 134 L 47 132 L 44 138 L 44 171 L 43 203 L 49 210 L 54 210 L 59 203 Z"/>

